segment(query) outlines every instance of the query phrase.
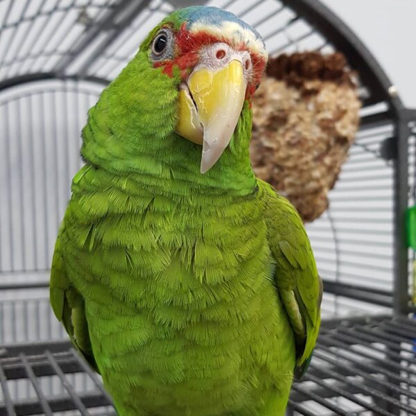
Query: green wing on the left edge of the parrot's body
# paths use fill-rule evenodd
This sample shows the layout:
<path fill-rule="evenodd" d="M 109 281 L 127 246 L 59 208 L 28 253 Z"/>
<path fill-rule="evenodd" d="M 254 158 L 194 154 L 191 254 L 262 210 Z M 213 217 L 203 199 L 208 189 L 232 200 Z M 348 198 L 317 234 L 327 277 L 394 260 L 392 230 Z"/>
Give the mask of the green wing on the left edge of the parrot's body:
<path fill-rule="evenodd" d="M 50 282 L 50 300 L 56 318 L 64 325 L 69 338 L 78 352 L 84 356 L 96 372 L 98 367 L 92 352 L 87 319 L 85 318 L 85 304 L 83 297 L 73 287 L 62 257 L 62 224 L 53 253 Z"/>

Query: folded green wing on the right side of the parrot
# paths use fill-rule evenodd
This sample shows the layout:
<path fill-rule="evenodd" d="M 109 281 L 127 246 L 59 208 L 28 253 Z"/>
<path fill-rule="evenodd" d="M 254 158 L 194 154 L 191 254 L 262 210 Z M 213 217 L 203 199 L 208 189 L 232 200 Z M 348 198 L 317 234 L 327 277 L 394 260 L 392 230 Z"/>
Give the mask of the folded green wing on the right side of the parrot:
<path fill-rule="evenodd" d="M 309 367 L 320 327 L 322 280 L 296 209 L 275 191 L 267 205 L 268 241 L 276 262 L 275 285 L 295 335 L 295 376 Z"/>

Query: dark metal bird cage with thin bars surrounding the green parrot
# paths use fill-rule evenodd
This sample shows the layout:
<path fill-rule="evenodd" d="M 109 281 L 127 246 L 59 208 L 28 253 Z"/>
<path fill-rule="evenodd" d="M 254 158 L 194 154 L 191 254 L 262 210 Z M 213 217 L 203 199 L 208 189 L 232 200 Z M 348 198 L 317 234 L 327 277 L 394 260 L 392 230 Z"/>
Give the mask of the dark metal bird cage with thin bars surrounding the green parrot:
<path fill-rule="evenodd" d="M 51 254 L 87 110 L 150 29 L 189 3 L 0 0 L 0 415 L 115 415 L 51 312 Z M 329 209 L 307 225 L 324 322 L 288 414 L 416 415 L 404 215 L 415 200 L 416 111 L 318 0 L 207 4 L 257 28 L 272 56 L 340 51 L 359 76 L 360 130 Z"/>

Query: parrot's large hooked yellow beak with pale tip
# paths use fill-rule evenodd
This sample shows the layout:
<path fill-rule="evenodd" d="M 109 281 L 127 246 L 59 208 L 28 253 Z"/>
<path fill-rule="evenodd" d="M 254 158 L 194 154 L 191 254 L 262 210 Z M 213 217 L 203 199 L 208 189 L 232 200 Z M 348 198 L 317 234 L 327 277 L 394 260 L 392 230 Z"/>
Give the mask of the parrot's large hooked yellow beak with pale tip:
<path fill-rule="evenodd" d="M 181 85 L 176 131 L 202 144 L 201 173 L 209 171 L 228 146 L 243 109 L 246 87 L 239 60 L 216 71 L 197 67 L 188 85 Z"/>

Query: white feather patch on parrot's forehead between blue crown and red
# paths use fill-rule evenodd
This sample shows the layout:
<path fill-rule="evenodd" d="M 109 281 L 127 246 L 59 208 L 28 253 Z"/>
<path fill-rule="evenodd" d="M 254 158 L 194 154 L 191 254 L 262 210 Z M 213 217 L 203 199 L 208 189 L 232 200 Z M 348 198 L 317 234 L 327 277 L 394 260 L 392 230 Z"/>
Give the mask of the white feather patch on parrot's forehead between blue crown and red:
<path fill-rule="evenodd" d="M 205 31 L 211 33 L 216 37 L 225 37 L 229 39 L 232 44 L 245 44 L 248 49 L 263 56 L 265 60 L 268 59 L 268 53 L 261 39 L 255 33 L 247 28 L 243 28 L 235 21 L 222 21 L 217 25 L 207 25 L 202 21 L 196 21 L 191 26 L 191 33 Z"/>

